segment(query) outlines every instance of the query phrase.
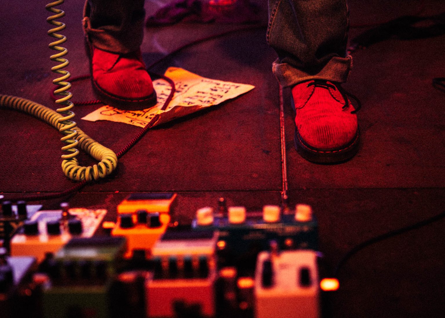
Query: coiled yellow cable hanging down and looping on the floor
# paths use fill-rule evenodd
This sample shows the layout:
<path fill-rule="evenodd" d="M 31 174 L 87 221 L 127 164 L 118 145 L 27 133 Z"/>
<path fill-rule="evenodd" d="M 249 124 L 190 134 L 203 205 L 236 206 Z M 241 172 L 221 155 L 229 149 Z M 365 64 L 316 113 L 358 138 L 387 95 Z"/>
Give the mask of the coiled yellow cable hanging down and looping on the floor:
<path fill-rule="evenodd" d="M 57 41 L 50 43 L 49 47 L 59 51 L 59 53 L 52 55 L 50 58 L 53 61 L 61 63 L 51 68 L 54 73 L 62 75 L 61 77 L 53 80 L 54 84 L 61 86 L 57 90 L 54 90 L 54 94 L 61 96 L 61 98 L 57 99 L 56 103 L 65 107 L 59 108 L 57 109 L 57 112 L 55 112 L 54 110 L 51 110 L 48 107 L 40 105 L 36 102 L 32 102 L 24 98 L 1 94 L 0 107 L 7 107 L 27 112 L 28 114 L 48 122 L 53 127 L 57 128 L 62 134 L 64 134 L 61 141 L 66 143 L 66 145 L 62 147 L 62 151 L 68 152 L 67 154 L 62 155 L 62 159 L 64 159 L 62 161 L 62 170 L 64 174 L 69 179 L 75 181 L 92 181 L 104 178 L 113 172 L 113 170 L 117 167 L 117 155 L 109 148 L 106 148 L 100 143 L 97 143 L 95 140 L 91 139 L 77 127 L 76 122 L 71 120 L 74 118 L 74 113 L 71 111 L 74 105 L 69 101 L 69 99 L 73 95 L 68 91 L 71 88 L 71 84 L 66 82 L 66 80 L 70 77 L 70 73 L 63 69 L 69 63 L 67 59 L 63 58 L 63 56 L 68 53 L 68 50 L 60 46 L 66 41 L 66 37 L 57 33 L 65 29 L 65 24 L 56 21 L 56 19 L 65 16 L 65 12 L 54 8 L 63 2 L 64 0 L 54 1 L 47 4 L 46 9 L 55 13 L 53 16 L 50 16 L 47 19 L 50 24 L 56 26 L 56 28 L 50 29 L 48 34 L 51 37 L 57 38 Z M 79 166 L 76 159 L 79 151 L 76 147 L 80 147 L 94 159 L 100 160 L 100 162 L 92 167 Z"/>

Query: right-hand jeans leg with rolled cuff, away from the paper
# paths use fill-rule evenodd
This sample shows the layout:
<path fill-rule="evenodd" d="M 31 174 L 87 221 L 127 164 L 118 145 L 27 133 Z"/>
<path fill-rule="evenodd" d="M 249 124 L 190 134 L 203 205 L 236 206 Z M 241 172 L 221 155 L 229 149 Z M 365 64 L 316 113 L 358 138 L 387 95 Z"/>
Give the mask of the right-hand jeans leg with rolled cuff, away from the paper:
<path fill-rule="evenodd" d="M 346 0 L 269 0 L 267 43 L 278 58 L 272 69 L 282 86 L 311 79 L 346 82 Z"/>

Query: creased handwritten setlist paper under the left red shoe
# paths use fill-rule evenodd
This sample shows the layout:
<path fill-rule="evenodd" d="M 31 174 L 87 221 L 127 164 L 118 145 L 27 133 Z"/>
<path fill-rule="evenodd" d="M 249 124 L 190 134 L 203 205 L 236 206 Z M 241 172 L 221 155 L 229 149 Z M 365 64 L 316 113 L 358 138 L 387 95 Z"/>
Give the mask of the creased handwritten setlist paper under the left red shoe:
<path fill-rule="evenodd" d="M 176 92 L 166 110 L 161 110 L 161 108 L 170 94 L 171 87 L 166 81 L 158 79 L 153 82 L 158 96 L 156 106 L 146 110 L 119 110 L 112 106 L 102 106 L 82 119 L 91 122 L 109 120 L 145 127 L 151 118 L 160 114 L 158 122 L 155 123 L 156 126 L 203 108 L 218 105 L 255 88 L 252 85 L 201 77 L 178 67 L 168 68 L 165 75 L 170 77 L 176 86 Z"/>

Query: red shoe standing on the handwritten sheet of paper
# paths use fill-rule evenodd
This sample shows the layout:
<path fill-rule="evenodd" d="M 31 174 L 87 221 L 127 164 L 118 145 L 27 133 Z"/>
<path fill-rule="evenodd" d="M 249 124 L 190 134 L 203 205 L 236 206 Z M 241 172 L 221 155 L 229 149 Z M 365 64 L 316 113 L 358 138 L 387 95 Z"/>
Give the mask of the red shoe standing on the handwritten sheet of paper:
<path fill-rule="evenodd" d="M 93 89 L 102 102 L 125 110 L 156 105 L 156 92 L 141 51 L 116 54 L 87 43 Z"/>

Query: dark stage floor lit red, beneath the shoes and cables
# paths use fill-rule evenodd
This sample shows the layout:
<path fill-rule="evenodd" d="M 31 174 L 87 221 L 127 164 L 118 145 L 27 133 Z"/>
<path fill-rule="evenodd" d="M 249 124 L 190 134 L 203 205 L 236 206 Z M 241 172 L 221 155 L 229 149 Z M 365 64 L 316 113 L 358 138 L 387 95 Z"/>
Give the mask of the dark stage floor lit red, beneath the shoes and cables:
<path fill-rule="evenodd" d="M 166 1 L 146 3 L 147 13 Z M 416 11 L 422 1 L 349 1 L 351 23 L 373 23 Z M 442 14 L 441 0 L 425 1 L 422 15 Z M 259 3 L 266 12 L 264 3 Z M 82 0 L 61 7 L 67 24 L 67 68 L 88 73 L 81 29 Z M 442 6 L 443 8 L 443 6 Z M 49 12 L 36 1 L 0 3 L 0 93 L 55 109 L 49 97 L 54 64 L 46 35 Z M 267 18 L 267 17 L 265 17 Z M 240 25 L 176 24 L 146 29 L 146 64 L 198 38 Z M 351 29 L 350 38 L 365 29 Z M 348 91 L 360 98 L 362 144 L 350 161 L 317 165 L 293 147 L 290 92 L 284 90 L 290 203 L 313 206 L 320 224 L 320 250 L 330 266 L 356 244 L 415 223 L 445 209 L 445 92 L 432 86 L 445 76 L 445 35 L 418 40 L 392 37 L 352 53 Z M 178 212 L 190 220 L 196 208 L 229 204 L 260 209 L 279 204 L 282 186 L 279 86 L 271 72 L 275 52 L 265 28 L 234 33 L 195 45 L 154 70 L 178 66 L 204 77 L 251 84 L 255 89 L 212 109 L 149 130 L 119 162 L 112 178 L 84 187 L 69 200 L 73 207 L 109 209 L 131 192 L 178 192 Z M 76 82 L 73 100 L 93 98 L 89 81 Z M 98 106 L 78 106 L 82 130 L 119 151 L 141 128 L 80 118 Z M 60 168 L 59 133 L 26 114 L 1 110 L 0 193 L 5 197 L 66 190 L 73 183 Z M 92 161 L 81 155 L 81 162 Z M 56 208 L 62 199 L 42 202 Z M 333 318 L 439 317 L 445 311 L 444 221 L 363 250 L 340 273 Z"/>

